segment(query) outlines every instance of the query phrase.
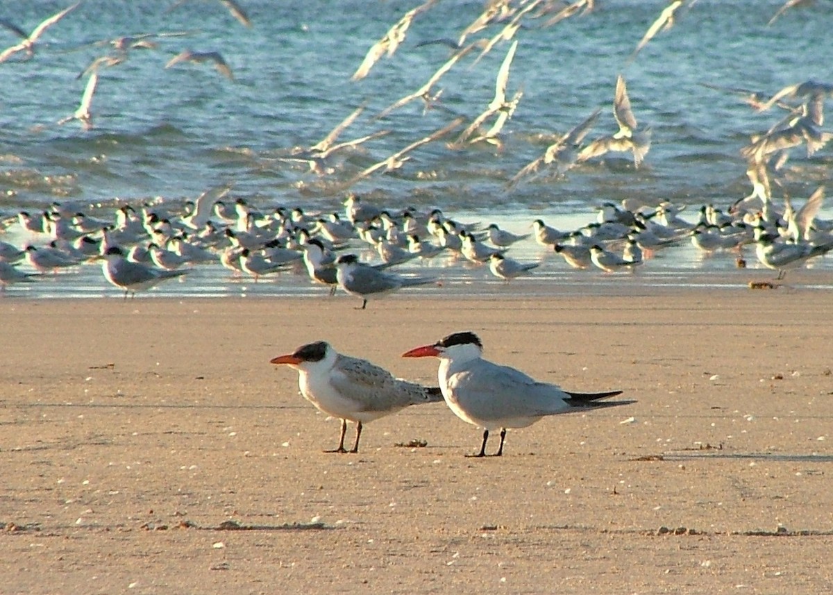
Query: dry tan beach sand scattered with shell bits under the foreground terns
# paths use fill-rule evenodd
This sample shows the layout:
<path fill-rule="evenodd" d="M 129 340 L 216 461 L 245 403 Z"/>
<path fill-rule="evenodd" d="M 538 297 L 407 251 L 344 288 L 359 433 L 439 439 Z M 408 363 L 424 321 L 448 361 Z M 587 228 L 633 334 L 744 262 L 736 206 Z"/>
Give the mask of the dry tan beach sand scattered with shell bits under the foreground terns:
<path fill-rule="evenodd" d="M 0 299 L 0 592 L 833 591 L 829 291 L 506 296 Z M 486 459 L 435 403 L 325 454 L 269 364 L 327 339 L 431 383 L 399 355 L 458 330 L 638 403 Z"/>

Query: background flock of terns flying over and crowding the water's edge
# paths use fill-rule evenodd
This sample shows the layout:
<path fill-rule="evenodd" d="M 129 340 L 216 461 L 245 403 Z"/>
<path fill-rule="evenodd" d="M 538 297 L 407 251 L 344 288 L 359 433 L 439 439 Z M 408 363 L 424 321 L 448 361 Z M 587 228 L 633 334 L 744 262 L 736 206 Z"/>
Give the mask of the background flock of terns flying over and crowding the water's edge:
<path fill-rule="evenodd" d="M 184 1 L 173 2 L 167 13 L 175 15 Z M 427 0 L 408 10 L 373 42 L 352 73 L 352 84 L 361 84 L 379 61 L 392 58 L 397 50 L 403 51 L 400 48 L 409 30 L 418 26 L 420 18 L 438 2 L 440 0 Z M 782 200 L 773 196 L 774 187 L 780 183 L 779 172 L 785 167 L 791 148 L 803 146 L 811 156 L 833 137 L 823 129 L 825 102 L 833 97 L 833 84 L 815 81 L 796 82 L 769 94 L 707 83 L 712 89 L 740 95 L 760 112 L 773 108 L 785 112 L 766 132 L 751 134 L 750 143 L 741 150 L 746 159 L 751 192 L 722 210 L 708 204 L 703 205 L 699 213 L 691 207 L 687 213 L 681 213 L 686 205 L 667 201 L 642 203 L 631 198 L 621 204 L 600 205 L 596 220 L 588 221 L 581 228 L 556 230 L 538 219 L 532 223 L 534 238 L 521 233 L 507 240 L 506 230 L 496 228 L 495 223 L 487 229 L 466 228 L 439 211 L 420 212 L 416 208 L 384 208 L 365 203 L 361 203 L 361 208 L 353 208 L 354 204 L 360 204 L 360 198 L 350 192 L 352 186 L 375 174 L 405 167 L 412 158 L 411 153 L 426 144 L 443 142 L 446 150 L 451 152 L 476 145 L 493 146 L 500 151 L 505 124 L 523 98 L 522 86 L 511 84 L 511 66 L 524 32 L 550 28 L 568 19 L 593 18 L 596 3 L 601 2 L 491 0 L 456 39 L 422 42 L 420 45 L 436 42 L 450 46 L 451 57 L 425 84 L 383 108 L 372 117 L 372 122 L 387 121 L 389 114 L 416 99 L 425 103 L 426 110 L 451 111 L 440 102 L 442 90 L 438 85 L 442 77 L 464 60 L 471 59 L 476 64 L 487 52 L 505 46 L 506 54 L 496 73 L 494 97 L 485 110 L 475 116 L 452 114 L 435 132 L 408 143 L 382 161 L 359 171 L 350 171 L 346 162 L 334 158 L 391 133 L 387 128 L 380 128 L 360 138 L 339 141 L 342 133 L 369 109 L 367 101 L 348 113 L 320 141 L 262 158 L 262 163 L 269 164 L 265 167 L 278 164 L 278 167 L 296 168 L 300 164 L 308 170 L 310 177 L 315 178 L 312 182 L 322 183 L 334 196 L 341 195 L 339 201 L 347 196 L 347 211 L 342 218 L 338 215 L 341 205 L 335 207 L 335 204 L 332 210 L 322 208 L 320 203 L 305 205 L 281 201 L 251 205 L 242 198 L 232 199 L 232 184 L 212 188 L 193 201 L 160 199 L 154 203 L 131 204 L 116 200 L 109 205 L 109 211 L 91 211 L 82 201 L 72 206 L 54 203 L 42 213 L 17 213 L 17 222 L 28 234 L 23 236 L 27 243 L 19 246 L 6 243 L 7 249 L 0 253 L 0 260 L 6 263 L 0 283 L 5 288 L 37 279 L 31 271 L 14 269 L 14 264 L 24 258 L 35 272 L 44 273 L 61 269 L 72 271 L 91 259 L 106 257 L 108 264 L 104 268 L 104 278 L 124 290 L 125 295 L 182 274 L 160 271 L 182 271 L 215 263 L 257 281 L 292 269 L 296 263 L 304 263 L 312 281 L 340 286 L 347 293 L 362 298 L 363 308 L 369 297 L 411 285 L 441 282 L 440 278 L 407 277 L 396 271 L 381 270 L 415 259 L 451 255 L 461 261 L 482 263 L 507 283 L 521 275 L 535 274 L 534 269 L 541 262 L 518 262 L 507 254 L 513 243 L 525 241 L 551 249 L 571 268 L 598 268 L 606 273 L 632 272 L 648 263 L 657 251 L 689 241 L 704 254 L 740 253 L 745 246 L 754 247 L 761 265 L 776 270 L 779 278 L 783 278 L 786 269 L 802 266 L 808 259 L 830 250 L 833 223 L 817 217 L 822 208 L 823 188 L 818 188 L 806 204 L 797 209 L 793 208 L 786 193 Z M 699 9 L 696 3 L 696 0 L 669 2 L 636 42 L 628 60 L 636 60 L 646 44 L 661 31 L 672 27 L 675 18 L 688 16 L 688 11 L 696 14 Z M 783 18 L 784 13 L 796 4 L 786 2 L 768 26 L 775 26 L 776 19 Z M 239 3 L 229 0 L 223 1 L 222 5 L 243 26 L 252 27 L 252 20 Z M 47 29 L 57 30 L 62 19 L 72 18 L 83 9 L 83 2 L 76 2 L 46 18 L 31 33 L 0 19 L 0 25 L 22 37 L 21 42 L 0 52 L 0 62 L 7 62 L 3 67 L 13 67 L 16 61 L 48 59 L 48 55 L 42 55 L 47 54 L 47 50 L 36 54 L 38 40 Z M 78 107 L 57 123 L 75 119 L 84 128 L 92 128 L 92 96 L 99 83 L 100 68 L 127 62 L 131 52 L 137 49 L 160 50 L 162 42 L 172 40 L 181 46 L 182 37 L 188 34 L 142 33 L 107 40 L 111 51 L 97 57 L 79 75 L 87 77 L 87 85 Z M 180 62 L 210 62 L 230 81 L 234 80 L 231 68 L 215 49 L 197 52 L 177 47 L 174 52 L 167 62 L 163 62 L 164 67 L 173 67 Z M 515 87 L 512 92 L 509 91 L 511 87 Z M 540 157 L 507 176 L 505 189 L 508 191 L 544 176 L 553 180 L 563 178 L 571 170 L 581 168 L 583 163 L 611 152 L 630 154 L 633 168 L 640 168 L 650 158 L 651 126 L 634 114 L 625 77 L 618 75 L 611 87 L 615 129 L 594 136 L 601 109 L 592 110 L 566 133 L 554 135 L 555 142 Z M 13 218 L 7 218 L 3 228 L 9 228 L 13 223 L 16 223 Z M 503 238 L 499 233 L 504 234 Z M 108 253 L 113 247 L 118 250 Z M 342 248 L 348 253 L 334 253 Z M 358 258 L 351 260 L 349 253 Z M 741 254 L 736 258 L 739 263 L 746 262 Z M 367 267 L 359 260 L 375 260 L 377 264 Z M 139 263 L 141 267 L 118 266 L 122 261 Z M 324 268 L 331 270 L 323 271 Z M 130 270 L 135 278 L 126 273 L 114 274 L 117 269 Z M 138 281 L 139 278 L 142 281 Z"/>

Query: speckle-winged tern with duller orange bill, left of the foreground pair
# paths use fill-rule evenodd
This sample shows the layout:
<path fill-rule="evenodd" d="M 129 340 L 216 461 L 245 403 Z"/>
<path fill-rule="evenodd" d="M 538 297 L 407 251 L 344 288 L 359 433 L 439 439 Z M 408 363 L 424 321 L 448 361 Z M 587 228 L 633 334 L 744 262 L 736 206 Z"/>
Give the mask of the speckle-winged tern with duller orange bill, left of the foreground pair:
<path fill-rule="evenodd" d="M 349 452 L 358 453 L 363 424 L 410 405 L 442 400 L 439 388 L 394 378 L 387 370 L 367 360 L 337 353 L 324 341 L 303 345 L 293 353 L 273 358 L 271 363 L 295 368 L 303 397 L 322 413 L 341 418 L 338 448 L 326 453 L 348 452 L 344 448 L 348 421 L 356 424 L 356 442 Z"/>

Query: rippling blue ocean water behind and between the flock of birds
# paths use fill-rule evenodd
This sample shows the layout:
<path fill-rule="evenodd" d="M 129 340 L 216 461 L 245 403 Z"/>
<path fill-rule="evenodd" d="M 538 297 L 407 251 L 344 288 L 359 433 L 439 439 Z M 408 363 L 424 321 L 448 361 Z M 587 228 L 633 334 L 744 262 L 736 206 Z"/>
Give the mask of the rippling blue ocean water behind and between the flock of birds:
<path fill-rule="evenodd" d="M 31 30 L 69 3 L 6 0 L 0 18 Z M 523 96 L 501 133 L 501 148 L 479 143 L 456 150 L 444 142 L 426 144 L 401 169 L 373 174 L 349 191 L 367 203 L 392 209 L 441 208 L 452 218 L 500 223 L 518 233 L 529 231 L 534 218 L 558 228 L 578 227 L 594 218 L 593 209 L 600 203 L 626 198 L 648 205 L 666 200 L 686 204 L 683 216 L 691 221 L 702 204 L 727 208 L 751 192 L 740 149 L 751 135 L 778 122 L 783 112 L 756 112 L 741 93 L 703 83 L 771 96 L 809 79 L 833 82 L 833 11 L 825 2 L 811 3 L 767 26 L 782 3 L 698 0 L 681 8 L 674 27 L 657 33 L 632 62 L 628 57 L 636 42 L 667 2 L 596 0 L 593 12 L 550 28 L 540 28 L 544 19 L 526 18 L 516 33 L 507 85 L 510 95 L 522 90 Z M 424 110 L 416 100 L 375 119 L 382 108 L 421 87 L 451 56 L 447 45 L 423 42 L 458 37 L 484 2 L 439 0 L 417 15 L 397 52 L 382 57 L 360 81 L 352 81 L 351 75 L 368 48 L 418 2 L 240 4 L 252 28 L 243 27 L 215 0 L 189 0 L 172 9 L 172 0 L 84 0 L 47 29 L 33 59 L 0 64 L 0 216 L 47 208 L 53 201 L 78 203 L 97 217 L 106 217 L 122 203 L 138 206 L 149 200 L 175 209 L 218 185 L 231 185 L 233 197 L 263 210 L 284 205 L 310 213 L 341 211 L 348 191 L 344 183 L 363 168 L 454 117 L 476 117 L 494 95 L 496 72 L 510 45 L 497 43 L 476 63 L 476 52 L 458 62 L 436 85 L 442 89 L 436 107 Z M 492 37 L 504 24 L 469 39 Z M 86 79 L 77 75 L 95 57 L 114 53 L 107 41 L 143 33 L 182 35 L 149 37 L 156 48 L 133 49 L 121 64 L 99 70 L 92 128 L 84 129 L 77 121 L 58 126 L 82 95 Z M 12 32 L 0 30 L 0 46 L 14 42 Z M 165 68 L 184 49 L 220 52 L 234 80 L 210 64 Z M 612 100 L 618 74 L 626 79 L 636 119 L 652 131 L 651 150 L 641 167 L 634 167 L 629 153 L 608 153 L 564 176 L 545 172 L 506 188 L 554 135 L 565 133 L 596 107 L 602 107 L 601 116 L 588 138 L 616 131 Z M 361 148 L 337 153 L 329 163 L 332 173 L 318 175 L 306 165 L 275 159 L 316 143 L 360 105 L 365 111 L 340 140 L 389 132 Z M 800 204 L 830 178 L 831 164 L 830 147 L 811 157 L 804 148 L 794 148 L 776 175 L 776 200 L 786 194 Z M 823 208 L 821 217 L 830 218 L 831 213 Z M 12 224 L 0 239 L 25 243 L 40 238 L 27 237 Z M 510 256 L 543 259 L 535 274 L 540 283 L 604 279 L 600 272 L 572 273 L 531 241 L 512 248 Z M 732 279 L 735 258 L 704 257 L 683 243 L 646 262 L 636 281 L 628 283 L 700 283 L 698 276 L 714 270 Z M 756 266 L 753 255 L 747 260 Z M 446 265 L 434 265 L 443 268 L 446 288 L 489 280 L 482 268 Z M 826 266 L 826 261 L 816 264 Z M 681 276 L 688 280 L 681 281 Z M 737 283 L 748 280 L 740 273 L 736 277 Z M 256 287 L 228 279 L 217 265 L 156 293 L 320 291 L 291 273 Z M 8 293 L 119 294 L 92 266 L 25 288 L 15 286 Z"/>

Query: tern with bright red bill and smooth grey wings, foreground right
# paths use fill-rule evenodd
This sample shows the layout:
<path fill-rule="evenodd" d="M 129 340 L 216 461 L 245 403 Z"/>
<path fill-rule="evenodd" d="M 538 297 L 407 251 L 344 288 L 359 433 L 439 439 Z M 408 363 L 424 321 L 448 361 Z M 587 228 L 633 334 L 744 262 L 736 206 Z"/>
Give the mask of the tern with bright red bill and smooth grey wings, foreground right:
<path fill-rule="evenodd" d="M 432 345 L 402 354 L 403 358 L 440 359 L 438 378 L 446 404 L 458 418 L 484 428 L 480 452 L 474 457 L 486 456 L 490 430 L 501 430 L 501 445 L 494 455 L 500 457 L 506 428 L 526 428 L 541 418 L 559 413 L 634 403 L 597 403 L 622 392 L 568 393 L 554 384 L 538 382 L 515 368 L 491 363 L 481 357 L 482 353 L 480 338 L 465 332 L 453 333 Z"/>

